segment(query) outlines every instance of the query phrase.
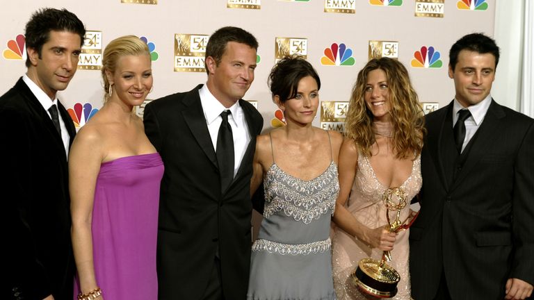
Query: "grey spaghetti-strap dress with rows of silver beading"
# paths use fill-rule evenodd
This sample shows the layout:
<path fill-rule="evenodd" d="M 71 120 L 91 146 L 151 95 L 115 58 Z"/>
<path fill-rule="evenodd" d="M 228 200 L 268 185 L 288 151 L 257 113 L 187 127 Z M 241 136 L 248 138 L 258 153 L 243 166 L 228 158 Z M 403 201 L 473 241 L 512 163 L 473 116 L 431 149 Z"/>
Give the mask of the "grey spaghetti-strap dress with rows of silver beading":
<path fill-rule="evenodd" d="M 337 165 L 302 181 L 275 163 L 264 176 L 265 209 L 252 245 L 248 299 L 332 300 L 330 218 Z"/>

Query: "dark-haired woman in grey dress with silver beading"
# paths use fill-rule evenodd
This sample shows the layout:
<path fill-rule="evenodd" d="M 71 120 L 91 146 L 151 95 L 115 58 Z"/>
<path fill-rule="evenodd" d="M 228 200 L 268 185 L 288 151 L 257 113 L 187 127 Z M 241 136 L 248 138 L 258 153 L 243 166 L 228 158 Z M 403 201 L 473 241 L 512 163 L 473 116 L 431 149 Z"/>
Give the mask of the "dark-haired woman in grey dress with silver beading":
<path fill-rule="evenodd" d="M 342 137 L 312 126 L 321 81 L 304 58 L 270 72 L 273 101 L 286 126 L 257 139 L 251 192 L 263 179 L 264 219 L 252 245 L 249 300 L 335 299 L 330 219 L 339 192 Z"/>

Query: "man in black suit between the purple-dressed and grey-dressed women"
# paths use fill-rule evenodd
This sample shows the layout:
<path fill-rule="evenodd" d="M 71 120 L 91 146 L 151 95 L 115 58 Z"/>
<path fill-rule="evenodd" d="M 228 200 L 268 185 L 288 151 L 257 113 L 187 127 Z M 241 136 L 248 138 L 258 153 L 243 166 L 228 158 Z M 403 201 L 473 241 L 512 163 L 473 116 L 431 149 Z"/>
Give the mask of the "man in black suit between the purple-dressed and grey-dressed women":
<path fill-rule="evenodd" d="M 165 165 L 158 232 L 159 299 L 245 299 L 250 178 L 263 119 L 241 99 L 258 43 L 236 27 L 206 48 L 206 85 L 145 108 L 145 131 Z"/>

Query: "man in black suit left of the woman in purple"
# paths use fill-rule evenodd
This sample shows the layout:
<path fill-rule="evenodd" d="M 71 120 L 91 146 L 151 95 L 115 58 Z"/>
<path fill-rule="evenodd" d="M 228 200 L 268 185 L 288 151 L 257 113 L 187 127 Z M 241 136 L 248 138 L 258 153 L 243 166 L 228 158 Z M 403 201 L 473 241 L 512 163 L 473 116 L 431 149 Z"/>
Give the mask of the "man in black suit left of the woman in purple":
<path fill-rule="evenodd" d="M 0 97 L 1 299 L 72 299 L 67 154 L 76 131 L 56 92 L 76 72 L 85 33 L 65 9 L 35 12 L 28 72 Z"/>

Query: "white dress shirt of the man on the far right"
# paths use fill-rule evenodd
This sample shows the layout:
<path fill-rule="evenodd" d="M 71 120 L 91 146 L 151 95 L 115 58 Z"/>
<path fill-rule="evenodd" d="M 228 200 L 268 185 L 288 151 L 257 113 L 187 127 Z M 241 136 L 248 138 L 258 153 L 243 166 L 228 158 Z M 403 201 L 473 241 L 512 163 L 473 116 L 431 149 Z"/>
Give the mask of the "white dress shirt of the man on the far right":
<path fill-rule="evenodd" d="M 467 110 L 469 110 L 469 113 L 471 115 L 465 120 L 465 139 L 464 144 L 462 145 L 462 151 L 464 151 L 465 147 L 473 138 L 476 131 L 480 127 L 480 124 L 484 121 L 484 117 L 486 116 L 487 110 L 489 109 L 489 104 L 492 103 L 492 95 L 488 94 L 487 97 L 478 103 L 476 103 L 474 106 L 469 106 Z M 464 109 L 462 104 L 458 102 L 458 100 L 454 99 L 453 103 L 453 127 L 454 124 L 456 124 L 456 121 L 458 121 L 458 112 L 460 110 Z"/>

